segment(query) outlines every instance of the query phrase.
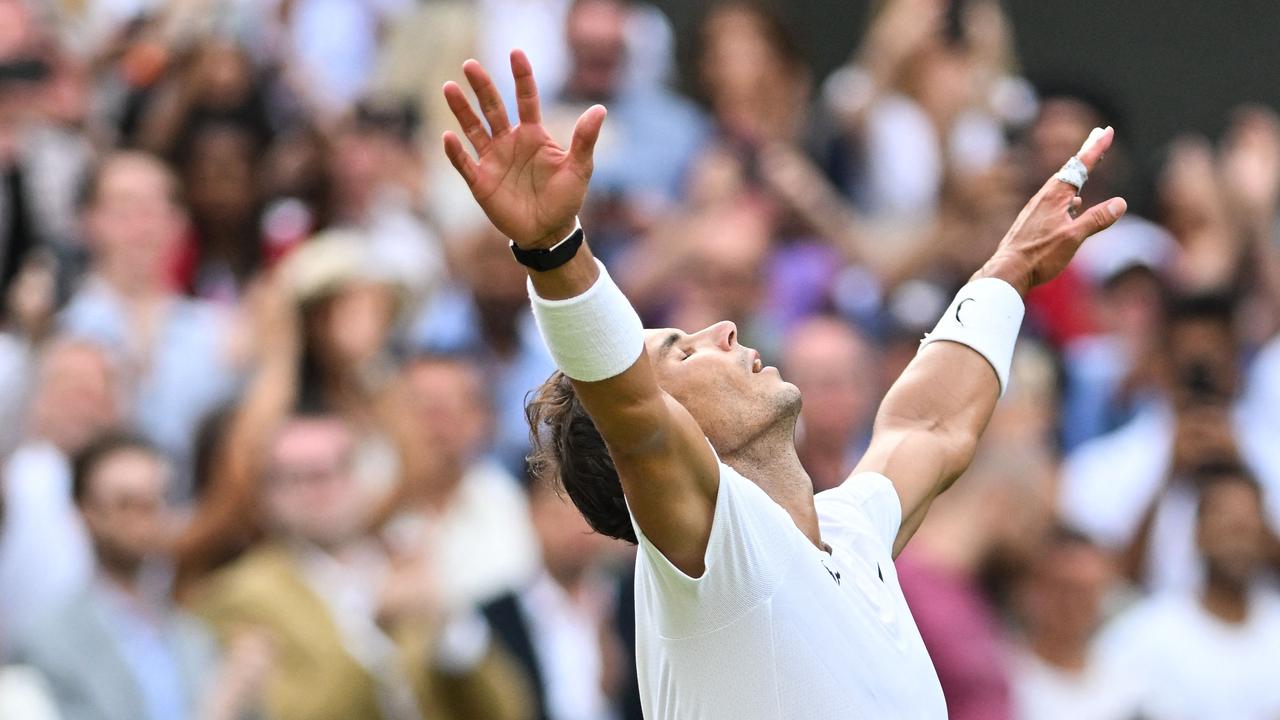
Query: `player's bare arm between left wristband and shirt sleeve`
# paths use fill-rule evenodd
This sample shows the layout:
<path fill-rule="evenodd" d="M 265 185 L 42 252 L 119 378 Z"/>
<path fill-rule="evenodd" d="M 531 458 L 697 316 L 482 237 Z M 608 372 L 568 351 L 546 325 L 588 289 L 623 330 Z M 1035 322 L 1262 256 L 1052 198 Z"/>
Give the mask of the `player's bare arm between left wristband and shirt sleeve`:
<path fill-rule="evenodd" d="M 700 574 L 719 487 L 701 428 L 658 387 L 646 352 L 620 375 L 573 387 L 609 448 L 640 529 L 673 565 Z"/>

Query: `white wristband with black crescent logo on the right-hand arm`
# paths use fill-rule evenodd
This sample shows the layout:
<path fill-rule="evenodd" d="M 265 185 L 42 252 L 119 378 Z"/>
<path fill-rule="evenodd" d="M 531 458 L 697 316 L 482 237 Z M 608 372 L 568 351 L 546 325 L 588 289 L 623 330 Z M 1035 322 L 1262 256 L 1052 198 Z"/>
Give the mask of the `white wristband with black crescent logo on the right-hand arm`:
<path fill-rule="evenodd" d="M 991 363 L 1004 397 L 1024 311 L 1023 299 L 1011 284 L 997 278 L 973 281 L 960 288 L 920 347 L 940 340 L 968 345 Z"/>

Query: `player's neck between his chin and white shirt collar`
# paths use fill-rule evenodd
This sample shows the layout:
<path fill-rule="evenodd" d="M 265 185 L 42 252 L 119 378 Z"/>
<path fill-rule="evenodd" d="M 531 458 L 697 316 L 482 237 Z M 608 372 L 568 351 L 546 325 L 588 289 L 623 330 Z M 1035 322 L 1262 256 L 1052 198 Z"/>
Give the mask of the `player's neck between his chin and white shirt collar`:
<path fill-rule="evenodd" d="M 795 420 L 768 430 L 742 447 L 726 452 L 726 465 L 760 486 L 773 502 L 791 515 L 800 532 L 823 547 L 818 511 L 813 506 L 813 482 L 800 464 L 795 446 Z"/>

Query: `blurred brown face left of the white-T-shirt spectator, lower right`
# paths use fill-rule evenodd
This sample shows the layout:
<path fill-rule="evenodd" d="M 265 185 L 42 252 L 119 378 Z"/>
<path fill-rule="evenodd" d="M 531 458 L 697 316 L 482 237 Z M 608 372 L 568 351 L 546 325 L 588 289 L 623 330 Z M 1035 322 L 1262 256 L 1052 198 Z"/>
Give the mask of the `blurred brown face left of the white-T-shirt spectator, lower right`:
<path fill-rule="evenodd" d="M 1039 559 L 1023 593 L 1023 612 L 1033 635 L 1084 643 L 1102 620 L 1102 601 L 1115 568 L 1100 548 L 1068 544 Z"/>

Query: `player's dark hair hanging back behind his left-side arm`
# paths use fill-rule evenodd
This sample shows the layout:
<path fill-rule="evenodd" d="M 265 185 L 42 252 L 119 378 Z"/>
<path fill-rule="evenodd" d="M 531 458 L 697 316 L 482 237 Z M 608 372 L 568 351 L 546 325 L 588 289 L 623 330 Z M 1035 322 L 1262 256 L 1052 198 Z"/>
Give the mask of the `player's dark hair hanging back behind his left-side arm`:
<path fill-rule="evenodd" d="M 636 544 L 622 480 L 573 383 L 561 372 L 552 374 L 531 393 L 525 416 L 534 480 L 563 487 L 595 532 Z"/>

